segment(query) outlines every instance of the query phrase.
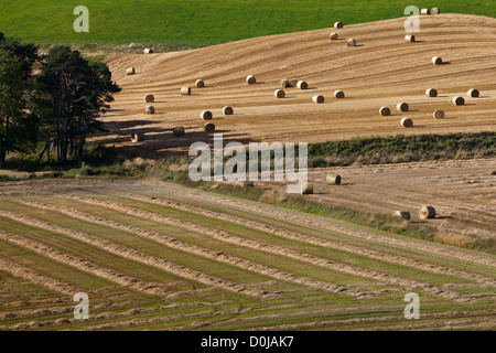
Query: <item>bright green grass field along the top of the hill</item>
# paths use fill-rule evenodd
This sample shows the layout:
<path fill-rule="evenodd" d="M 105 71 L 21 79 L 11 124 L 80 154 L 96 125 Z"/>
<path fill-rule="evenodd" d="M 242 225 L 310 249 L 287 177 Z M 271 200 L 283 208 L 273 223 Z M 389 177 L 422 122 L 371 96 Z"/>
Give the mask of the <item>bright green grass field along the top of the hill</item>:
<path fill-rule="evenodd" d="M 496 17 L 495 0 L 1 0 L 0 32 L 37 43 L 166 43 L 205 46 L 241 39 L 371 22 L 405 8 Z M 76 33 L 74 9 L 89 10 Z"/>

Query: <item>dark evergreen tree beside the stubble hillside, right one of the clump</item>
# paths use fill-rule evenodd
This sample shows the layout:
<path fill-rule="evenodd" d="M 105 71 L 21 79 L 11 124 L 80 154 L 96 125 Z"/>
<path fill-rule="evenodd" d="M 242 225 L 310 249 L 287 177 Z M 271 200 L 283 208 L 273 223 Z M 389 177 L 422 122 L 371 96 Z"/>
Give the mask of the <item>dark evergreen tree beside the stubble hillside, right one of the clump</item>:
<path fill-rule="evenodd" d="M 88 62 L 68 46 L 52 49 L 36 81 L 34 111 L 42 119 L 46 148 L 53 145 L 57 162 L 83 154 L 86 137 L 103 129 L 105 113 L 120 88 L 103 62 Z"/>

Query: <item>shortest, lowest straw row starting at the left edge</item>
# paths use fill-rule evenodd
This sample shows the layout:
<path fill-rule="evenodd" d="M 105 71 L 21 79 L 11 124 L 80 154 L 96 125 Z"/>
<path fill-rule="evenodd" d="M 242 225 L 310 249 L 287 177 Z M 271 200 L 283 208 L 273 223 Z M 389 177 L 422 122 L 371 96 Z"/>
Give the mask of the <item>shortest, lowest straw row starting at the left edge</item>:
<path fill-rule="evenodd" d="M 73 285 L 64 284 L 55 278 L 46 277 L 10 260 L 0 258 L 0 270 L 8 272 L 14 277 L 28 279 L 30 282 L 41 285 L 71 297 L 73 297 L 77 292 L 80 292 L 80 290 Z"/>

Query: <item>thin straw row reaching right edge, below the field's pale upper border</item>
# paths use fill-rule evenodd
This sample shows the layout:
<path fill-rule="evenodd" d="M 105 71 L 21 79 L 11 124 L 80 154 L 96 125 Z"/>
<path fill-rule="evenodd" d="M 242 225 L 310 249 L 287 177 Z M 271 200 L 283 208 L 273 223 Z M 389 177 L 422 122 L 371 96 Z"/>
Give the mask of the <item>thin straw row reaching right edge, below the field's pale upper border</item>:
<path fill-rule="evenodd" d="M 367 257 L 373 257 L 373 258 L 385 260 L 388 263 L 401 264 L 401 265 L 409 266 L 409 267 L 420 268 L 422 270 L 430 271 L 430 272 L 451 275 L 451 276 L 465 278 L 468 280 L 476 280 L 477 282 L 482 282 L 484 285 L 495 285 L 496 284 L 496 281 L 494 279 L 490 279 L 490 278 L 487 278 L 487 277 L 484 277 L 481 275 L 467 274 L 467 272 L 460 271 L 460 270 L 452 269 L 452 268 L 429 265 L 429 264 L 424 264 L 419 260 L 407 259 L 407 258 L 396 256 L 396 255 L 385 255 L 385 254 L 380 254 L 378 252 L 364 249 L 362 247 L 356 247 L 356 246 L 352 246 L 352 245 L 337 244 L 335 242 L 330 242 L 330 240 L 299 234 L 299 233 L 287 231 L 287 229 L 280 229 L 280 228 L 273 227 L 271 225 L 261 224 L 256 221 L 250 221 L 250 220 L 245 220 L 245 218 L 237 217 L 237 216 L 220 214 L 220 213 L 216 213 L 213 211 L 206 211 L 206 210 L 203 210 L 200 207 L 180 204 L 176 202 L 163 201 L 163 200 L 144 197 L 144 196 L 134 196 L 134 195 L 128 195 L 128 197 L 137 200 L 137 201 L 141 201 L 141 202 L 149 202 L 149 203 L 160 204 L 160 205 L 174 207 L 174 208 L 179 208 L 179 210 L 183 210 L 183 211 L 187 211 L 187 212 L 200 213 L 200 214 L 203 214 L 208 217 L 214 217 L 214 218 L 227 221 L 230 223 L 241 224 L 241 225 L 249 226 L 255 229 L 258 229 L 258 231 L 261 231 L 265 233 L 270 233 L 270 234 L 281 236 L 284 238 L 295 239 L 295 240 L 304 240 L 304 242 L 313 244 L 313 245 L 339 249 L 339 250 L 348 252 L 352 254 L 360 254 L 360 255 L 364 255 Z M 345 270 L 344 267 L 343 267 L 343 270 Z M 371 271 L 369 275 L 366 275 L 366 276 L 370 276 L 370 275 L 371 275 Z"/>

